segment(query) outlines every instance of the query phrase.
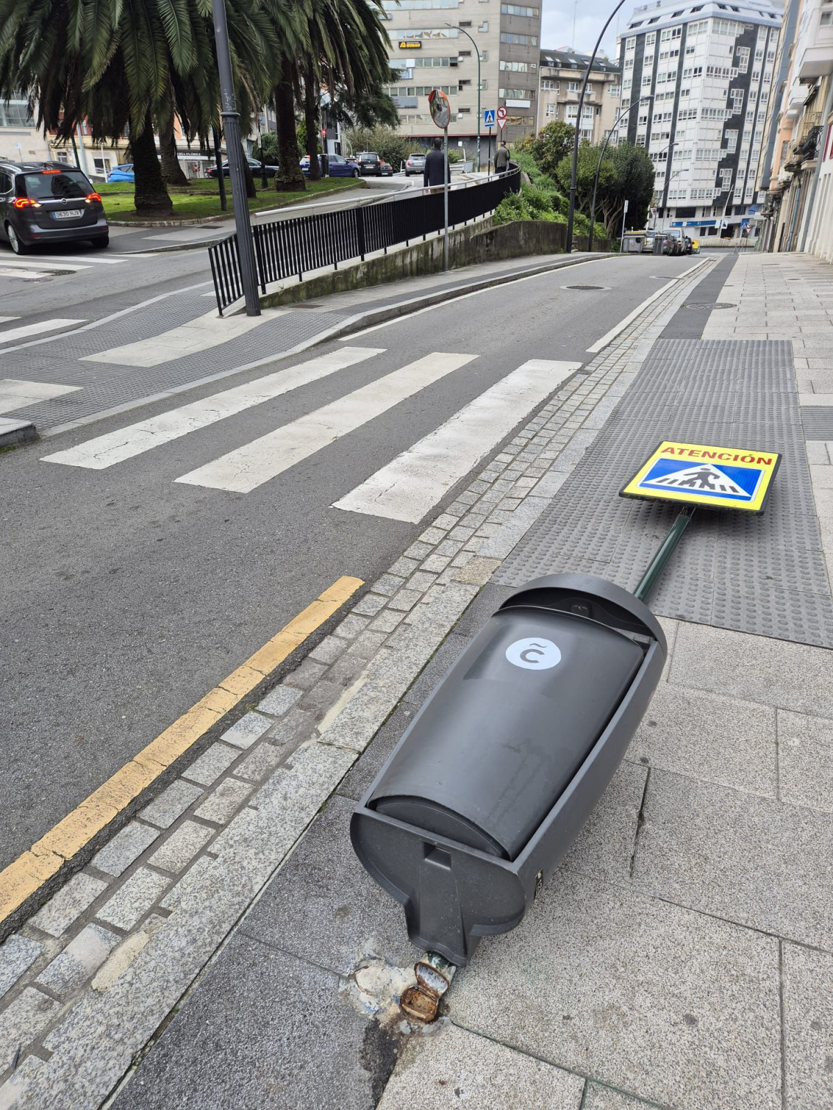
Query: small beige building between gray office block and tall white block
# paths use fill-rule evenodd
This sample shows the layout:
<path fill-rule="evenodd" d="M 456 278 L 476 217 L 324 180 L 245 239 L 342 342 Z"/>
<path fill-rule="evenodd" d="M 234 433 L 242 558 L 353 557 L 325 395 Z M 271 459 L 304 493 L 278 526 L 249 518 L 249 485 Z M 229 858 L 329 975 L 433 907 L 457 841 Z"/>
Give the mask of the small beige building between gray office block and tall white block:
<path fill-rule="evenodd" d="M 554 120 L 576 125 L 579 92 L 588 71 L 590 54 L 562 47 L 542 50 L 539 60 L 538 128 Z M 616 62 L 596 58 L 590 70 L 579 132 L 588 142 L 602 142 L 619 114 L 622 95 Z M 612 140 L 614 141 L 614 140 Z"/>

